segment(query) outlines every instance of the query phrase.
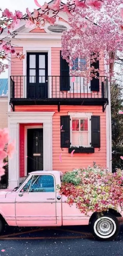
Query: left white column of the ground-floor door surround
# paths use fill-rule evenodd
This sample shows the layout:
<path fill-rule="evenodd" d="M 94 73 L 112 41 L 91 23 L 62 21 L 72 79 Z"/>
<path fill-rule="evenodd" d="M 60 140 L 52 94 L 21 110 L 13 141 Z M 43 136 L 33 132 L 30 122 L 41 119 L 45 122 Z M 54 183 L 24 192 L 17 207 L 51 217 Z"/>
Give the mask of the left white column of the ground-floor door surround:
<path fill-rule="evenodd" d="M 15 188 L 19 185 L 19 125 L 18 123 L 11 123 L 10 117 L 8 121 L 11 141 L 15 141 L 15 152 L 12 159 L 9 158 L 9 188 Z"/>

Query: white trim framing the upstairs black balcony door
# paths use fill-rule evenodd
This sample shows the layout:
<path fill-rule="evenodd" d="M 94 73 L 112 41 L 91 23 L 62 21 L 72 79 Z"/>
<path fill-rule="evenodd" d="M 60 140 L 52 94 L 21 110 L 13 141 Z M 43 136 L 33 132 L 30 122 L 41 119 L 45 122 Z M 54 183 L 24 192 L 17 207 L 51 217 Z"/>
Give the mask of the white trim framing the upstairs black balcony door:
<path fill-rule="evenodd" d="M 23 59 L 23 75 L 27 75 L 27 52 L 47 52 L 48 53 L 48 76 L 51 76 L 51 47 L 23 47 L 23 54 L 25 58 Z M 51 83 L 49 82 L 49 98 L 51 98 Z M 23 98 L 27 97 L 27 84 L 23 82 Z"/>

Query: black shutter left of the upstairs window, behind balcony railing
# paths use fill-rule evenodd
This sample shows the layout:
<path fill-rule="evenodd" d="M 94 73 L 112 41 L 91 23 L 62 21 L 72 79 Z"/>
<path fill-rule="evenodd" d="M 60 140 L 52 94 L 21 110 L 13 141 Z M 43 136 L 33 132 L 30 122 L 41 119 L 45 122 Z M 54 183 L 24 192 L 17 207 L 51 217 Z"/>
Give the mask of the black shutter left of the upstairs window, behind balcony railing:
<path fill-rule="evenodd" d="M 60 51 L 60 91 L 69 91 L 70 90 L 70 68 L 68 62 L 62 58 Z"/>

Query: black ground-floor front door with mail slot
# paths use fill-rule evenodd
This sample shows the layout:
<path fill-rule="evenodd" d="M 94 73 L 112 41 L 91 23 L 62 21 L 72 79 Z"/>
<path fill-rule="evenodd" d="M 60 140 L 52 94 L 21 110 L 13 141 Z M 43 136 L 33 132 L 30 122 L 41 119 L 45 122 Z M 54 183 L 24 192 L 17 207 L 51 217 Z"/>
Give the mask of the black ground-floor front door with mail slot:
<path fill-rule="evenodd" d="M 27 129 L 27 174 L 43 170 L 43 129 Z"/>

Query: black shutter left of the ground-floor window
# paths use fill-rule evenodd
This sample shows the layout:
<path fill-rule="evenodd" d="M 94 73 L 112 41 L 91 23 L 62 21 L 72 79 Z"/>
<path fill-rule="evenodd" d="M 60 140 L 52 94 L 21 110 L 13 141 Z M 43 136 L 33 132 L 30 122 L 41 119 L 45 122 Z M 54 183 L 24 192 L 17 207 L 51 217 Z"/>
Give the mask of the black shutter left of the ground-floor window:
<path fill-rule="evenodd" d="M 70 148 L 70 115 L 60 116 L 61 148 Z"/>

